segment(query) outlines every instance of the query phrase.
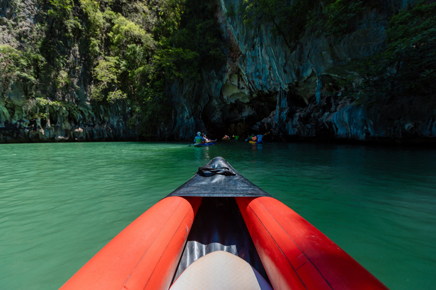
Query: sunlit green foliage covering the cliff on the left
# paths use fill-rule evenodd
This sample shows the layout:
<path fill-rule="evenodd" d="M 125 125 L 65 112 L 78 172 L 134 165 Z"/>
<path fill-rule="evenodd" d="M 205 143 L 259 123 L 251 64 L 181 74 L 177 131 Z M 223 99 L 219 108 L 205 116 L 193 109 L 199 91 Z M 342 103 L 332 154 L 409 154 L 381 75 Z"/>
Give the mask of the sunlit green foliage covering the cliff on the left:
<path fill-rule="evenodd" d="M 0 45 L 1 92 L 14 82 L 23 84 L 28 119 L 53 123 L 55 114 L 48 108 L 53 102 L 69 108 L 71 95 L 83 91 L 73 78 L 82 75 L 84 93 L 95 105 L 123 100 L 132 107 L 130 125 L 154 136 L 157 126 L 171 118 L 168 82 L 197 82 L 201 67 L 225 59 L 209 1 L 35 2 L 36 24 L 30 33 L 14 35 L 18 41 L 25 38 L 25 45 Z M 7 4 L 10 14 L 2 20 L 9 19 L 13 31 L 26 20 L 28 7 L 19 0 Z M 68 112 L 89 114 L 82 105 Z M 10 118 L 4 101 L 0 113 Z"/>

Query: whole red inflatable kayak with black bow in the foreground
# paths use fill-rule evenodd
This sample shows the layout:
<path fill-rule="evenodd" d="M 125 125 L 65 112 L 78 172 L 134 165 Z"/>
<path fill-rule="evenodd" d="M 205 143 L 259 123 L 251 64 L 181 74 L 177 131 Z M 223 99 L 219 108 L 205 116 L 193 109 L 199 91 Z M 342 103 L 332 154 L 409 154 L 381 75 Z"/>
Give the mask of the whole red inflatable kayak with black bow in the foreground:
<path fill-rule="evenodd" d="M 222 157 L 128 225 L 60 289 L 222 287 L 387 289 Z"/>

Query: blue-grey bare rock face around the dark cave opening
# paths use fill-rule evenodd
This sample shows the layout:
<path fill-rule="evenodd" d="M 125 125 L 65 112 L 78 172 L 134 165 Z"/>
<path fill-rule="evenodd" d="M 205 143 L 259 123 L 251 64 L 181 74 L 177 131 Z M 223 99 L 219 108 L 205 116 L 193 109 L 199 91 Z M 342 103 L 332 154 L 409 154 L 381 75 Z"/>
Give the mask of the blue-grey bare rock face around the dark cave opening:
<path fill-rule="evenodd" d="M 414 1 L 381 1 L 386 9 L 365 10 L 353 32 L 337 39 L 306 34 L 292 49 L 271 34 L 269 24 L 256 31 L 239 14 L 228 13 L 240 1 L 218 1 L 228 62 L 219 73 L 203 73 L 209 100 L 202 103 L 201 118 L 207 126 L 230 134 L 270 130 L 282 140 L 434 140 L 434 100 L 410 96 L 362 106 L 323 93 L 354 75 L 347 68 L 350 61 L 383 47 L 392 5 L 404 8 Z"/>

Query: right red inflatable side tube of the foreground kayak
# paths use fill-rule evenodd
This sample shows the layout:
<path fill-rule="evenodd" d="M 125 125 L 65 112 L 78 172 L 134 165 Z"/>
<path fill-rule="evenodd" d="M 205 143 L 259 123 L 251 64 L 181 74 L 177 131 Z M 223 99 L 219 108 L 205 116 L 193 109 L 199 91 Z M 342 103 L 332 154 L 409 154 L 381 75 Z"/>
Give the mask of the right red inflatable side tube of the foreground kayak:
<path fill-rule="evenodd" d="M 274 290 L 388 289 L 280 201 L 235 199 Z"/>

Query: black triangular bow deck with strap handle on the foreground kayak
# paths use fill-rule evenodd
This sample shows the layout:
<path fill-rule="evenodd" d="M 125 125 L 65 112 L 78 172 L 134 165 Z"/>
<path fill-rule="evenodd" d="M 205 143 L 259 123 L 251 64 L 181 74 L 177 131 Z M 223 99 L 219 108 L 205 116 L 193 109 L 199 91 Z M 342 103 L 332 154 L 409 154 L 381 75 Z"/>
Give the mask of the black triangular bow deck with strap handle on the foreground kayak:
<path fill-rule="evenodd" d="M 207 168 L 210 168 L 208 171 Z M 228 168 L 224 169 L 224 168 Z M 232 171 L 234 175 L 229 174 Z M 243 177 L 221 156 L 200 167 L 197 174 L 168 196 L 271 196 Z"/>

